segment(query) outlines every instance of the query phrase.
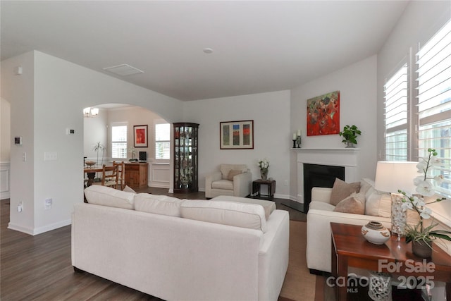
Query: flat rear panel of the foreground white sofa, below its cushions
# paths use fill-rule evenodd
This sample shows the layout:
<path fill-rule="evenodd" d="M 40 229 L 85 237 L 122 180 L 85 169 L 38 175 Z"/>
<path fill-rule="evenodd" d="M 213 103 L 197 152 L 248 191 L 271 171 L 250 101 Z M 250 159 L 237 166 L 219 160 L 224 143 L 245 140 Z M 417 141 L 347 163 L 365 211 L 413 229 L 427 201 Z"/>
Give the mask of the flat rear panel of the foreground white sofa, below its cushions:
<path fill-rule="evenodd" d="M 164 300 L 258 300 L 263 235 L 249 228 L 76 204 L 72 264 Z"/>

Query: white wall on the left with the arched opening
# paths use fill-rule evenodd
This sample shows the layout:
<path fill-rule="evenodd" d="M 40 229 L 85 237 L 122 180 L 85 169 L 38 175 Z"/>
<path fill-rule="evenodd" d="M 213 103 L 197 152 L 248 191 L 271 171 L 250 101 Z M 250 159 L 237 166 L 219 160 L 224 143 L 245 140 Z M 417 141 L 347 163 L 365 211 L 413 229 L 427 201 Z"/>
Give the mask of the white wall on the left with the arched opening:
<path fill-rule="evenodd" d="M 14 75 L 15 66 L 23 75 Z M 70 223 L 73 204 L 83 200 L 82 109 L 96 104 L 135 104 L 167 120 L 179 120 L 181 102 L 54 56 L 31 51 L 2 61 L 1 97 L 11 104 L 11 136 L 24 145 L 11 149 L 9 227 L 37 234 Z M 66 135 L 66 128 L 75 135 Z M 22 161 L 27 152 L 27 161 Z M 56 152 L 44 161 L 44 152 Z M 53 207 L 44 210 L 44 200 Z M 18 212 L 18 202 L 24 209 Z"/>

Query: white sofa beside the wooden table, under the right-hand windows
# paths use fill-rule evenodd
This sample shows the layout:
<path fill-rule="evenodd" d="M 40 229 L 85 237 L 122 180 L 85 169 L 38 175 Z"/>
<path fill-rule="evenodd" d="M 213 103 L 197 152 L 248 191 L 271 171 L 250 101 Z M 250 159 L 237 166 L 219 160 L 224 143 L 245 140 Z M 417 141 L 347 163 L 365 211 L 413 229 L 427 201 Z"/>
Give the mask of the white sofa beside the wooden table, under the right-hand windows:
<path fill-rule="evenodd" d="M 364 207 L 364 214 L 334 211 L 330 204 L 332 188 L 313 188 L 307 213 L 307 267 L 312 273 L 331 271 L 330 222 L 365 225 L 369 221 L 380 221 L 391 227 L 391 197 L 373 188 L 373 181 L 362 179 L 356 198 Z"/>

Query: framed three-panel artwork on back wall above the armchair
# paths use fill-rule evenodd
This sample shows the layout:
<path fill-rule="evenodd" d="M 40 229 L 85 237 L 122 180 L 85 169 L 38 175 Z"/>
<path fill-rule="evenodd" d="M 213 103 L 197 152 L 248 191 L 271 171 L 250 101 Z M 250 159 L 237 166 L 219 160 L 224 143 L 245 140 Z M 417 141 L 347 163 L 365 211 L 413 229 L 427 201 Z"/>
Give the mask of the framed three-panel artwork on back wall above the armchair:
<path fill-rule="evenodd" d="M 254 121 L 219 123 L 220 149 L 253 149 Z"/>

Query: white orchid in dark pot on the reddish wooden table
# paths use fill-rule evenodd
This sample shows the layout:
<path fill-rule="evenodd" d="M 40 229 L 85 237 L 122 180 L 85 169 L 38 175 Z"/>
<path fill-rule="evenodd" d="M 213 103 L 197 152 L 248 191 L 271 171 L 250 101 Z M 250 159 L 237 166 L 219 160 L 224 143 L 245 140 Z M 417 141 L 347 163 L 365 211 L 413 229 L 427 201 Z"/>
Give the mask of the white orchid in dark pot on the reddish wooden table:
<path fill-rule="evenodd" d="M 421 158 L 419 164 L 416 165 L 418 172 L 422 173 L 421 176 L 414 179 L 414 185 L 416 186 L 418 195 L 408 196 L 406 192 L 398 190 L 398 192 L 405 196 L 402 199 L 402 208 L 404 210 L 414 210 L 419 214 L 419 223 L 414 226 L 407 224 L 405 231 L 406 242 L 412 242 L 412 252 L 419 257 L 431 257 L 433 240 L 443 239 L 451 241 L 451 231 L 434 230 L 438 223 L 431 222 L 431 225 L 424 226 L 424 220 L 431 218 L 431 209 L 426 207 L 426 205 L 441 202 L 446 199 L 445 197 L 441 197 L 431 202 L 425 202 L 425 197 L 435 195 L 433 181 L 440 184 L 443 180 L 443 176 L 428 176 L 428 171 L 431 171 L 431 166 L 438 163 L 436 156 L 437 152 L 435 152 L 435 149 L 428 149 L 428 157 L 426 159 Z"/>

